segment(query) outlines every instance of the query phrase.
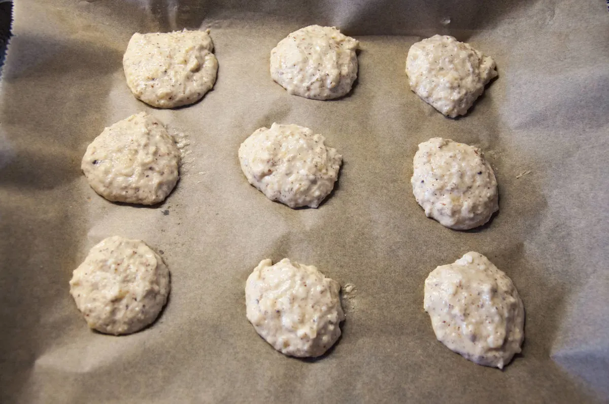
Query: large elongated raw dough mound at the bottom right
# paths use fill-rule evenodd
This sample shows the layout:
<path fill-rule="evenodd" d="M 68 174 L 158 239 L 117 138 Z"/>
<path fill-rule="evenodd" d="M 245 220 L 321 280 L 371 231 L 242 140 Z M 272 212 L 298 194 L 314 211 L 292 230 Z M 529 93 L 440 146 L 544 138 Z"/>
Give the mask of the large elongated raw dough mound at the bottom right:
<path fill-rule="evenodd" d="M 477 364 L 501 369 L 521 350 L 523 301 L 512 280 L 478 252 L 431 271 L 424 309 L 438 341 Z"/>

